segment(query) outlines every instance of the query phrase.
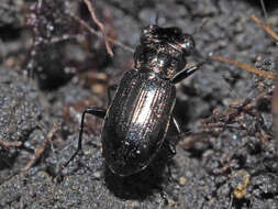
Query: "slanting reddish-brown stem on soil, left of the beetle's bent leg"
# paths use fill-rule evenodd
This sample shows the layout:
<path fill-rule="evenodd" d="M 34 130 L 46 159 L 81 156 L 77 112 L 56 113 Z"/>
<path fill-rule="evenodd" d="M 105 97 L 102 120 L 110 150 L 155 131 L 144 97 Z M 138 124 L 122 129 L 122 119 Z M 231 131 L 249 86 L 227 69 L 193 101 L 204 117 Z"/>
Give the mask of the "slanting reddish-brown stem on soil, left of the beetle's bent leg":
<path fill-rule="evenodd" d="M 27 172 L 35 164 L 35 162 L 42 156 L 43 152 L 46 148 L 46 145 L 48 144 L 49 141 L 52 141 L 57 130 L 58 130 L 58 124 L 56 123 L 54 124 L 53 129 L 49 131 L 47 136 L 44 139 L 42 144 L 40 144 L 40 146 L 35 150 L 34 155 L 32 156 L 27 165 L 22 169 L 23 172 Z"/>

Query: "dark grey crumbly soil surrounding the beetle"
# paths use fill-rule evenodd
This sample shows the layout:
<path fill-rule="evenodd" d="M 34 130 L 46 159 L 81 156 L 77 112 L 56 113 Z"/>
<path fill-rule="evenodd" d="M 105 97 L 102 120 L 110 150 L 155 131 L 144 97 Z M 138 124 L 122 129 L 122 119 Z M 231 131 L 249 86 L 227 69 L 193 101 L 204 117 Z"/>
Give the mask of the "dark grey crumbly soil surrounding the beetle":
<path fill-rule="evenodd" d="M 77 147 L 82 110 L 107 107 L 107 88 L 132 68 L 133 54 L 114 45 L 114 57 L 108 55 L 103 38 L 69 15 L 98 30 L 81 1 L 35 2 L 0 3 L 0 208 L 278 208 L 274 81 L 219 62 L 177 85 L 175 116 L 186 134 L 171 161 L 163 163 L 162 151 L 146 170 L 114 176 L 101 156 L 102 121 L 88 117 L 82 155 L 55 178 Z M 132 48 L 158 15 L 159 25 L 196 32 L 202 57 L 214 53 L 267 70 L 278 64 L 275 40 L 249 18 L 264 19 L 259 0 L 93 2 L 108 35 Z M 278 32 L 277 2 L 266 9 Z M 45 140 L 40 160 L 23 172 Z"/>

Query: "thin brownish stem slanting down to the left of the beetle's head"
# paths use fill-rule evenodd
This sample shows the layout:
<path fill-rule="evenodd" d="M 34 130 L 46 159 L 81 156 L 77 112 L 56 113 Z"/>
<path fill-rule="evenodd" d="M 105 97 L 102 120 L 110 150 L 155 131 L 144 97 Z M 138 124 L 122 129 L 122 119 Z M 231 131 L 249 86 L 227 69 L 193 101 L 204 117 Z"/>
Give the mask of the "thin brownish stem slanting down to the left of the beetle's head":
<path fill-rule="evenodd" d="M 99 32 L 97 32 L 94 29 L 92 29 L 89 24 L 87 24 L 84 20 L 81 20 L 80 18 L 76 16 L 74 13 L 69 13 L 69 15 L 79 24 L 81 24 L 85 29 L 87 29 L 90 33 L 92 33 L 93 35 L 97 35 L 98 37 L 102 37 L 103 35 Z M 126 46 L 125 44 L 115 41 L 111 37 L 107 37 L 107 40 L 111 43 L 113 43 L 114 45 L 122 47 L 123 50 L 134 53 L 134 50 L 132 47 Z"/>

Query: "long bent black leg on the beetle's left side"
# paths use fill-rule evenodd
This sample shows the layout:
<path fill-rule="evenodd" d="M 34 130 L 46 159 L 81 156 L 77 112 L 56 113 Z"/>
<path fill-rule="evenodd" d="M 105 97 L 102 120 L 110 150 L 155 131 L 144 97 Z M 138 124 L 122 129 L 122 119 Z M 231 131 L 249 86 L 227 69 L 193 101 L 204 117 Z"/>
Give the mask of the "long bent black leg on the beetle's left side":
<path fill-rule="evenodd" d="M 67 161 L 67 163 L 65 163 L 63 165 L 62 169 L 65 168 L 65 167 L 67 167 L 67 165 L 76 157 L 76 155 L 78 154 L 78 152 L 82 150 L 82 134 L 84 134 L 85 117 L 86 117 L 87 113 L 103 119 L 104 116 L 105 116 L 105 113 L 107 113 L 107 110 L 103 109 L 103 108 L 96 108 L 94 107 L 94 108 L 88 108 L 88 109 L 86 109 L 84 111 L 82 118 L 81 118 L 81 124 L 80 124 L 80 128 L 79 128 L 79 138 L 78 138 L 77 150 L 73 154 L 73 156 Z"/>

